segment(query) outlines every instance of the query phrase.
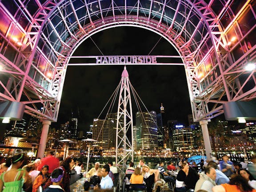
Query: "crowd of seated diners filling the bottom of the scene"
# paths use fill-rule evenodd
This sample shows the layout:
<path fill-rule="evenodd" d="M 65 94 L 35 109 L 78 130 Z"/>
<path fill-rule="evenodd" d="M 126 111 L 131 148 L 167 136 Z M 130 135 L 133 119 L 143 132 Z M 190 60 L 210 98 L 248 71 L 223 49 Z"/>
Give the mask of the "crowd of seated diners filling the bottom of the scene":
<path fill-rule="evenodd" d="M 201 160 L 200 167 L 194 162 L 181 159 L 178 166 L 160 161 L 159 166 L 150 168 L 143 159 L 139 165 L 133 162 L 125 172 L 125 182 L 145 184 L 147 192 L 157 190 L 157 186 L 168 183 L 176 192 L 256 192 L 256 158 L 252 164 L 233 163 L 224 155 L 220 161 Z M 0 157 L 0 192 L 70 192 L 70 172 L 75 170 L 81 177 L 86 177 L 84 191 L 112 189 L 119 174 L 118 169 L 108 162 L 102 168 L 95 162 L 84 175 L 82 162 L 72 157 L 59 161 L 52 152 L 43 159 L 29 163 L 22 153 Z M 165 170 L 167 168 L 167 170 Z M 177 174 L 171 174 L 176 172 Z M 92 188 L 93 184 L 93 188 Z"/>

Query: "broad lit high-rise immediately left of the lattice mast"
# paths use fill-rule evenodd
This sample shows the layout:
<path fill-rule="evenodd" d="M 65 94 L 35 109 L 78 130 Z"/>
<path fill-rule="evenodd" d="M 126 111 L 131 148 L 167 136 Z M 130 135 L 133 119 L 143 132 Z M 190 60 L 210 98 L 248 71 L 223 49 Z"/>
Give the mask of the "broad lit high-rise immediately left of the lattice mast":
<path fill-rule="evenodd" d="M 115 147 L 114 142 L 114 120 L 93 120 L 92 139 L 100 149 L 111 149 Z"/>

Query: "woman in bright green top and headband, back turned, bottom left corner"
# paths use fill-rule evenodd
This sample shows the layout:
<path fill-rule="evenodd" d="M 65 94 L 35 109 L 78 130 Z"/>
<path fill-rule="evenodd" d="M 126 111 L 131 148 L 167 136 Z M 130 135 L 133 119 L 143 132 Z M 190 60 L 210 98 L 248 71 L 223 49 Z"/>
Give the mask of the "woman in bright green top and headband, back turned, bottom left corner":
<path fill-rule="evenodd" d="M 31 178 L 26 170 L 20 169 L 24 163 L 23 153 L 16 154 L 10 158 L 12 168 L 0 176 L 0 192 L 22 192 L 23 185 L 31 186 Z M 28 191 L 31 188 L 26 188 Z"/>

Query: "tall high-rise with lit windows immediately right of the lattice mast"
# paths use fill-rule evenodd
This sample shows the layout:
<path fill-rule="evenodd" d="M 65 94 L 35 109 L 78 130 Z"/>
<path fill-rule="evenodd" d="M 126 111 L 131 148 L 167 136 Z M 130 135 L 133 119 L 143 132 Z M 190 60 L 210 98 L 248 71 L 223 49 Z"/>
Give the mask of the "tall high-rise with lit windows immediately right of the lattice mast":
<path fill-rule="evenodd" d="M 137 148 L 157 148 L 156 112 L 136 112 Z"/>

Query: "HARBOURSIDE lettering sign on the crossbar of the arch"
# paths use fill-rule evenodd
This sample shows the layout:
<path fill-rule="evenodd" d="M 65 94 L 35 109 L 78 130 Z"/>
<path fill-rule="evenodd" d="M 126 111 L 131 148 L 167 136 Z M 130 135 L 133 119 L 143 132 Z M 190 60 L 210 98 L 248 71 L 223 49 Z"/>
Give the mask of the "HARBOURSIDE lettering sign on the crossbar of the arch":
<path fill-rule="evenodd" d="M 156 56 L 98 56 L 96 64 L 156 64 Z"/>

